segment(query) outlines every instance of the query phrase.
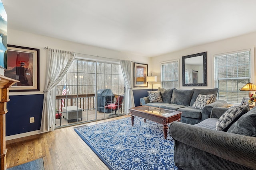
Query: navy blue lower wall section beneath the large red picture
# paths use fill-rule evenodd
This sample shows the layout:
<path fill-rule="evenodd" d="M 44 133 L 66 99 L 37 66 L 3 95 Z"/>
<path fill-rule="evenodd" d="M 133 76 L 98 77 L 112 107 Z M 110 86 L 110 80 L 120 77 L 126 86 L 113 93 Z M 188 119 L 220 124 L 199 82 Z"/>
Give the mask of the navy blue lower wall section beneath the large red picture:
<path fill-rule="evenodd" d="M 6 136 L 40 130 L 44 94 L 9 96 Z M 30 123 L 35 117 L 35 123 Z"/>

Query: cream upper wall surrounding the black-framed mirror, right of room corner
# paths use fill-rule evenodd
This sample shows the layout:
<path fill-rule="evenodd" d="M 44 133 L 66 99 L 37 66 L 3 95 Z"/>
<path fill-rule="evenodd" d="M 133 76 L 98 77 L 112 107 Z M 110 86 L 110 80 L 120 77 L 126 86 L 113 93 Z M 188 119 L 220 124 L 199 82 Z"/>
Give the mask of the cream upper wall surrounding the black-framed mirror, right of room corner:
<path fill-rule="evenodd" d="M 214 55 L 221 53 L 228 53 L 232 51 L 240 51 L 244 49 L 251 49 L 252 55 L 252 83 L 255 82 L 255 60 L 256 52 L 254 50 L 256 45 L 256 32 L 224 39 L 222 41 L 216 41 L 214 43 L 208 43 L 204 45 L 198 45 L 187 49 L 182 49 L 173 53 L 152 57 L 152 69 L 153 74 L 157 76 L 157 82 L 154 82 L 153 88 L 161 86 L 161 62 L 179 60 L 179 84 L 180 89 L 192 89 L 192 88 L 214 88 Z M 182 87 L 182 56 L 192 55 L 196 53 L 202 53 L 207 51 L 207 86 L 202 87 Z"/>

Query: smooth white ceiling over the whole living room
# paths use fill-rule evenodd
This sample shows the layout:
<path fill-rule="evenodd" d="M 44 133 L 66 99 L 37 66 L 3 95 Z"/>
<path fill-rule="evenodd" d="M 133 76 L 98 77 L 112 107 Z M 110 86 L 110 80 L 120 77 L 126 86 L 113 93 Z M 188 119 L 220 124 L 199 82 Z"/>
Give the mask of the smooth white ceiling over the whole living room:
<path fill-rule="evenodd" d="M 256 31 L 256 0 L 2 0 L 8 28 L 157 56 Z"/>

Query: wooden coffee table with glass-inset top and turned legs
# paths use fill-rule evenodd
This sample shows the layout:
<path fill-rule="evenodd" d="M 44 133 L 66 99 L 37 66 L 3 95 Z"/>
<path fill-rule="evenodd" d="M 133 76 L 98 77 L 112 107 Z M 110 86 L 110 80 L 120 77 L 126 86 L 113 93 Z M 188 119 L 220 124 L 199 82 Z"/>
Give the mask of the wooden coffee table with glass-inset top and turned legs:
<path fill-rule="evenodd" d="M 144 118 L 144 122 L 146 122 L 146 119 L 148 119 L 156 123 L 160 123 L 163 125 L 164 139 L 167 138 L 168 125 L 173 121 L 180 121 L 180 115 L 182 113 L 182 111 L 160 109 L 158 107 L 150 106 L 132 107 L 129 108 L 129 110 L 132 119 L 132 126 L 134 122 L 134 116 Z"/>

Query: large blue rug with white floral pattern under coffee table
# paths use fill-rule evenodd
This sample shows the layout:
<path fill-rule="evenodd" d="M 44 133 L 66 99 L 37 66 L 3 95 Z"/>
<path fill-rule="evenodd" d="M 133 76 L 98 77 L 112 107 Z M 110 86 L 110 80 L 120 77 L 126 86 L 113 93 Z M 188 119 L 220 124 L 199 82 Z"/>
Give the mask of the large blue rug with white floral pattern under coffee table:
<path fill-rule="evenodd" d="M 162 125 L 135 117 L 75 128 L 110 170 L 178 170 L 174 145 Z"/>

